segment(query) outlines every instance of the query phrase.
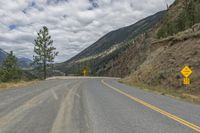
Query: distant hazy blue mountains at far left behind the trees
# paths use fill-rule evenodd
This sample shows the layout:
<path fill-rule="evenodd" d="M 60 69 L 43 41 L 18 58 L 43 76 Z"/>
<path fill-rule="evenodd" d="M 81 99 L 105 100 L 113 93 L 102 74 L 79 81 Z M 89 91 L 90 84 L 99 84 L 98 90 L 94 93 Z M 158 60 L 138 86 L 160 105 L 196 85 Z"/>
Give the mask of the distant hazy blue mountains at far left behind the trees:
<path fill-rule="evenodd" d="M 7 57 L 8 53 L 0 49 L 0 64 L 3 63 L 4 59 Z M 17 58 L 17 64 L 20 68 L 27 69 L 31 67 L 32 60 L 22 57 Z"/>

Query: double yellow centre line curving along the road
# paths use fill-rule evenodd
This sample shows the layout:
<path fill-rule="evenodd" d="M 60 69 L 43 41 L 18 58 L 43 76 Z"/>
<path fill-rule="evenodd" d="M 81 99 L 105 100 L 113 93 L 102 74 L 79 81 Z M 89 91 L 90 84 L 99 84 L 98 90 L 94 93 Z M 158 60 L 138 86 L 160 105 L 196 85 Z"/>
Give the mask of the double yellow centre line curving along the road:
<path fill-rule="evenodd" d="M 111 88 L 111 89 L 117 91 L 118 93 L 123 94 L 124 96 L 127 96 L 128 98 L 130 98 L 130 99 L 132 99 L 132 100 L 134 100 L 134 101 L 136 101 L 136 102 L 138 102 L 138 103 L 140 103 L 140 104 L 142 104 L 142 105 L 144 105 L 144 106 L 146 106 L 146 107 L 148 107 L 148 108 L 150 108 L 150 109 L 152 109 L 152 110 L 154 110 L 154 111 L 156 111 L 156 112 L 158 112 L 158 113 L 160 113 L 160 114 L 162 114 L 162 115 L 164 115 L 164 116 L 167 116 L 168 118 L 170 118 L 170 119 L 172 119 L 172 120 L 175 120 L 175 121 L 177 121 L 177 122 L 179 122 L 179 123 L 181 123 L 181 124 L 183 124 L 183 125 L 185 125 L 185 126 L 191 128 L 191 129 L 193 129 L 193 130 L 195 130 L 195 131 L 197 131 L 197 132 L 200 132 L 200 126 L 195 125 L 195 124 L 193 124 L 193 123 L 191 123 L 191 122 L 188 122 L 188 121 L 186 121 L 186 120 L 184 120 L 184 119 L 182 119 L 182 118 L 180 118 L 180 117 L 178 117 L 178 116 L 175 116 L 175 115 L 173 115 L 173 114 L 170 114 L 170 113 L 168 113 L 168 112 L 166 112 L 166 111 L 164 111 L 164 110 L 162 110 L 162 109 L 160 109 L 160 108 L 158 108 L 158 107 L 156 107 L 156 106 L 153 106 L 153 105 L 151 105 L 151 104 L 149 104 L 149 103 L 147 103 L 147 102 L 145 102 L 145 101 L 143 101 L 143 100 L 141 100 L 141 99 L 138 99 L 138 98 L 136 98 L 136 97 L 133 97 L 133 96 L 131 96 L 131 95 L 129 95 L 129 94 L 127 94 L 127 93 L 125 93 L 125 92 L 123 92 L 123 91 L 121 91 L 121 90 L 119 90 L 119 89 L 117 89 L 117 88 L 115 88 L 115 87 L 113 87 L 113 86 L 111 86 L 111 85 L 109 85 L 109 84 L 106 83 L 104 80 L 101 80 L 101 82 L 102 82 L 105 86 L 107 86 L 107 87 L 109 87 L 109 88 Z"/>

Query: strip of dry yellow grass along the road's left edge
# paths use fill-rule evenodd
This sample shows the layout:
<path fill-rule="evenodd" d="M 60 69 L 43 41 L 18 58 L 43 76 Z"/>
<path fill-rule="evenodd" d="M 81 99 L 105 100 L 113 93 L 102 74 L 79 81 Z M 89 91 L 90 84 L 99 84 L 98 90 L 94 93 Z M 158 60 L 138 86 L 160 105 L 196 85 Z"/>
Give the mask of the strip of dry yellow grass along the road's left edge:
<path fill-rule="evenodd" d="M 38 82 L 39 80 L 32 80 L 32 81 L 12 81 L 7 83 L 0 83 L 0 89 L 9 89 L 9 88 L 19 88 L 31 85 L 33 83 Z"/>

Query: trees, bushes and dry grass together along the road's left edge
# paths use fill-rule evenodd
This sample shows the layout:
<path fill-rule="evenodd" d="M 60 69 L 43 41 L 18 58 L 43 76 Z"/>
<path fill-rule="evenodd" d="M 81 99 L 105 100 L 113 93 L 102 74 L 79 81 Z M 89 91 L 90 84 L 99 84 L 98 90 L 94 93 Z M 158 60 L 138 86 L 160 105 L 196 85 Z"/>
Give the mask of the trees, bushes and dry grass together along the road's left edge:
<path fill-rule="evenodd" d="M 53 47 L 53 40 L 48 28 L 44 26 L 34 42 L 33 69 L 22 70 L 17 64 L 17 58 L 11 51 L 0 66 L 0 88 L 23 87 L 46 79 L 47 68 L 53 64 L 58 55 Z M 41 78 L 42 77 L 42 78 Z"/>

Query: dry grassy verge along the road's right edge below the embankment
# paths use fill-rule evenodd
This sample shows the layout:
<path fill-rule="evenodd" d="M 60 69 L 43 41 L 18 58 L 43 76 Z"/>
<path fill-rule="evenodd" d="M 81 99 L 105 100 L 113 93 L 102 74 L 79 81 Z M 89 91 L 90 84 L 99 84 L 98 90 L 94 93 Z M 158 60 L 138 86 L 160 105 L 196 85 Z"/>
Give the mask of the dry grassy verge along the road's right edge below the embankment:
<path fill-rule="evenodd" d="M 120 80 L 119 82 L 130 86 L 138 87 L 139 89 L 143 89 L 145 91 L 150 91 L 160 95 L 165 95 L 176 99 L 182 99 L 184 101 L 200 104 L 200 93 L 192 92 L 189 89 L 187 90 L 185 88 L 181 89 L 163 88 L 160 86 L 150 86 L 144 83 L 129 83 L 123 80 Z"/>

